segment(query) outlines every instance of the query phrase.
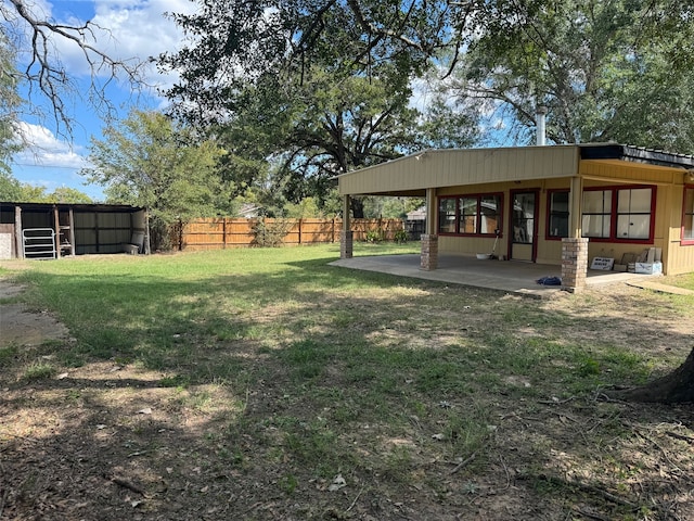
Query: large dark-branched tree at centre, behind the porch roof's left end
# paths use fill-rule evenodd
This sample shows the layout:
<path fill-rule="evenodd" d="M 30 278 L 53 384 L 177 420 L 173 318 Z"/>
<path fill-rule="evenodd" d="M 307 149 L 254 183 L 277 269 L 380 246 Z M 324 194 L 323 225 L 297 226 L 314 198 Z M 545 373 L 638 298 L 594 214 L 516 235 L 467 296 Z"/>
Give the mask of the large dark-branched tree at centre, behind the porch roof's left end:
<path fill-rule="evenodd" d="M 283 5 L 271 16 L 250 7 L 239 12 L 237 3 L 205 4 L 193 16 L 177 16 L 197 37 L 195 46 L 160 56 L 163 66 L 182 71 L 183 81 L 168 92 L 175 114 L 196 125 L 219 125 L 230 151 L 226 175 L 242 180 L 237 186 L 253 185 L 248 176 L 258 168 L 236 158 L 253 157 L 257 167 L 271 157 L 280 165 L 272 170 L 274 192 L 294 203 L 314 196 L 323 207 L 336 175 L 440 141 L 459 147 L 474 141 L 476 122 L 467 114 L 433 125 L 410 105 L 412 75 L 441 42 L 436 24 L 446 15 L 439 13 L 424 30 L 422 24 L 433 18 L 417 2 L 407 15 L 400 8 L 369 3 L 370 16 L 402 15 L 406 25 L 421 29 L 400 27 L 386 35 L 365 21 L 364 2 L 321 9 L 296 2 L 300 12 Z M 250 45 L 252 34 L 261 43 Z M 371 36 L 362 39 L 364 34 Z M 453 112 L 445 103 L 437 110 Z M 445 124 L 455 130 L 441 131 Z M 361 201 L 352 200 L 352 213 L 363 216 Z"/>

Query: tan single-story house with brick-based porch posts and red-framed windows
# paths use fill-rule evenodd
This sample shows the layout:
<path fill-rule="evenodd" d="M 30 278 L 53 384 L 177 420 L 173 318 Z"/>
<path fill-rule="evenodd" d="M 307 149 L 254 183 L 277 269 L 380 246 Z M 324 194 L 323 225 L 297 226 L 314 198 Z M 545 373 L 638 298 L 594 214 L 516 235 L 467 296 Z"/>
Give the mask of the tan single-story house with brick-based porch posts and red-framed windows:
<path fill-rule="evenodd" d="M 664 274 L 694 271 L 690 155 L 615 143 L 427 150 L 340 175 L 338 186 L 346 220 L 354 196 L 425 198 L 422 269 L 436 269 L 438 252 L 497 242 L 500 258 L 561 265 L 574 290 L 589 259 L 651 249 Z M 345 230 L 342 255 L 351 256 Z"/>

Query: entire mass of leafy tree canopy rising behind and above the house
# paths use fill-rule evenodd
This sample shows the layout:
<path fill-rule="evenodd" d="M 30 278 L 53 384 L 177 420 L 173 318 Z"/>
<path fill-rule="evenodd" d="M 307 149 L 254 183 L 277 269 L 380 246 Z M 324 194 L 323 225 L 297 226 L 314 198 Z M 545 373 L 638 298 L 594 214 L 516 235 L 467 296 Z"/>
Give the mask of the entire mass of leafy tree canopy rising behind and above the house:
<path fill-rule="evenodd" d="M 509 129 L 503 144 L 529 142 L 537 105 L 557 143 L 692 150 L 683 0 L 230 0 L 171 16 L 189 36 L 158 60 L 181 73 L 174 114 L 214 125 L 239 187 L 271 171 L 291 202 L 323 201 L 344 171 L 478 143 L 480 118 Z M 432 69 L 447 90 L 417 105 Z"/>

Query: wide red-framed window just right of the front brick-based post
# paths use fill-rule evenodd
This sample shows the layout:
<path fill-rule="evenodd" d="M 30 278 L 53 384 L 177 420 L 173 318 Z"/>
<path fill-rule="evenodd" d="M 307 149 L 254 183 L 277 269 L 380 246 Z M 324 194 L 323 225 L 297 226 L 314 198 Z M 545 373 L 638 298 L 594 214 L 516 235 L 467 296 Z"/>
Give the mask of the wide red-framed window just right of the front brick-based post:
<path fill-rule="evenodd" d="M 583 191 L 583 237 L 613 241 L 653 241 L 654 188 Z"/>

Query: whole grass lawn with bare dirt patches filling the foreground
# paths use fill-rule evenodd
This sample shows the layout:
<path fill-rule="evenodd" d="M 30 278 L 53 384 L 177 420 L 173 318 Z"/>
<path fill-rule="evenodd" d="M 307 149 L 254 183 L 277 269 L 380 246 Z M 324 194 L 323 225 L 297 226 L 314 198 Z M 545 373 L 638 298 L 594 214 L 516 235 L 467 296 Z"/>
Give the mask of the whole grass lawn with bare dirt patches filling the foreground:
<path fill-rule="evenodd" d="M 0 519 L 694 519 L 691 407 L 603 394 L 683 361 L 693 297 L 535 300 L 338 255 L 7 263 L 26 289 L 0 304 L 70 338 L 0 340 Z"/>

